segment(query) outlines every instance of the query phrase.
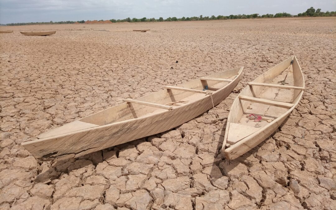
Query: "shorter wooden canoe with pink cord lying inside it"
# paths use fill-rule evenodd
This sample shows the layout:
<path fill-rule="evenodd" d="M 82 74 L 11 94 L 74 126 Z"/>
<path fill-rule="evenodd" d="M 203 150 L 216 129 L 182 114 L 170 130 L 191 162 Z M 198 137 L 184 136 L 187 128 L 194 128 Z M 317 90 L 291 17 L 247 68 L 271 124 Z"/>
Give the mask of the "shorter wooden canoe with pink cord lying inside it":
<path fill-rule="evenodd" d="M 303 90 L 304 78 L 295 56 L 249 82 L 227 117 L 222 146 L 225 157 L 233 160 L 274 133 L 299 103 Z M 261 116 L 261 121 L 253 120 L 251 114 L 256 119 Z"/>

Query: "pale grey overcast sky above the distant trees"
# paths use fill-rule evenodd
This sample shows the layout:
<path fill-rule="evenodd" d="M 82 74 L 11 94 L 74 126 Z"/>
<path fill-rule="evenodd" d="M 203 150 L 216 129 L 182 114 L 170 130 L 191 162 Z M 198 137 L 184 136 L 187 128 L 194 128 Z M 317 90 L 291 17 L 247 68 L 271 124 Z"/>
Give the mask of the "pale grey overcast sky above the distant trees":
<path fill-rule="evenodd" d="M 311 6 L 322 11 L 335 11 L 336 0 L 0 0 L 0 23 L 278 12 L 297 14 Z"/>

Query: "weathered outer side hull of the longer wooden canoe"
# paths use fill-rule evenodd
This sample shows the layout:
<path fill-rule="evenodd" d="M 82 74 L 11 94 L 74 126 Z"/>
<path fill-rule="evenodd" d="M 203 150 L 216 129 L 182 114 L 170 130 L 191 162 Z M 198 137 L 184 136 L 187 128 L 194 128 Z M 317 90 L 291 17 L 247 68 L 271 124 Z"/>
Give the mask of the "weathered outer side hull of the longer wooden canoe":
<path fill-rule="evenodd" d="M 225 99 L 238 84 L 243 68 L 236 78 L 212 93 L 213 103 L 217 105 Z M 212 108 L 210 95 L 174 107 L 173 110 L 140 117 L 104 126 L 84 129 L 71 135 L 59 135 L 49 138 L 23 142 L 22 145 L 36 158 L 49 160 L 57 157 L 78 157 L 114 145 L 161 133 L 194 119 Z"/>

